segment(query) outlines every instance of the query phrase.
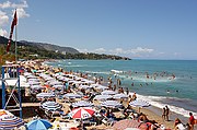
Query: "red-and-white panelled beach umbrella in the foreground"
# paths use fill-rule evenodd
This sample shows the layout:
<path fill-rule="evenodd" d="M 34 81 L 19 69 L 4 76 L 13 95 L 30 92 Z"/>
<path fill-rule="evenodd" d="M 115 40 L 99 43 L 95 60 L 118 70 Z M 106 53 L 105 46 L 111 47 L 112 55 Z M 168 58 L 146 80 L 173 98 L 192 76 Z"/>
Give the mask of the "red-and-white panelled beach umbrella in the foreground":
<path fill-rule="evenodd" d="M 80 107 L 71 111 L 72 118 L 76 119 L 86 119 L 92 117 L 93 114 L 94 114 L 94 109 L 90 107 Z"/>

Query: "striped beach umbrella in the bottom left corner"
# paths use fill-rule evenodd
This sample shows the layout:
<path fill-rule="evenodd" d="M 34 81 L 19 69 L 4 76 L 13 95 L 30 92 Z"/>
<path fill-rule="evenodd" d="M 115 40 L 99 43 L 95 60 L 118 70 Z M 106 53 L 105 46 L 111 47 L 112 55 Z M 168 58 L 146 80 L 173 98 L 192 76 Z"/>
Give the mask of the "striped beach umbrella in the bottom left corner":
<path fill-rule="evenodd" d="M 15 128 L 20 128 L 24 125 L 24 121 L 15 116 L 8 116 L 0 119 L 0 129 L 11 130 Z"/>

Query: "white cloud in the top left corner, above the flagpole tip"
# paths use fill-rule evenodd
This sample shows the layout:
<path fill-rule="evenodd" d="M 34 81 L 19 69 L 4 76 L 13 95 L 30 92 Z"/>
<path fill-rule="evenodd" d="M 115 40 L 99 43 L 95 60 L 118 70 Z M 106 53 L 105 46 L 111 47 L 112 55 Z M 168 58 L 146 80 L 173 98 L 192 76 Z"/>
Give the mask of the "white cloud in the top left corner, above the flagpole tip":
<path fill-rule="evenodd" d="M 3 3 L 0 3 L 0 9 L 20 9 L 20 8 L 27 8 L 27 2 L 25 0 L 22 1 L 22 3 L 11 3 L 10 1 L 5 1 Z"/>

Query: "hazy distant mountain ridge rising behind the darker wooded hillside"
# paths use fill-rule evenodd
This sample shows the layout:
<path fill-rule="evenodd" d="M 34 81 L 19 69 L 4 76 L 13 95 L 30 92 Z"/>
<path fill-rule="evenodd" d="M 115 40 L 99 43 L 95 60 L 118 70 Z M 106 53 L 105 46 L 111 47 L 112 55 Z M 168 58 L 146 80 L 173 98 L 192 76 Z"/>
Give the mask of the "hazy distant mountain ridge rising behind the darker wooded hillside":
<path fill-rule="evenodd" d="M 7 45 L 8 38 L 0 36 L 0 44 Z M 58 51 L 60 54 L 79 54 L 79 51 L 74 48 L 71 47 L 60 47 L 57 45 L 53 44 L 46 44 L 46 43 L 35 43 L 35 42 L 26 42 L 26 40 L 21 40 L 18 42 L 19 46 L 33 46 L 46 50 L 51 50 L 51 51 Z"/>

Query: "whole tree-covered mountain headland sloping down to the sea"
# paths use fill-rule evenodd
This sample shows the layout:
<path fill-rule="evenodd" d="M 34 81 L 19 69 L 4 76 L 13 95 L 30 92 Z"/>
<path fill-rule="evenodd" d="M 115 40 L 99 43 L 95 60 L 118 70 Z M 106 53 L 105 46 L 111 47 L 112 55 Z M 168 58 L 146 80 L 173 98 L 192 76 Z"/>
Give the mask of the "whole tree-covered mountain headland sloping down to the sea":
<path fill-rule="evenodd" d="M 7 54 L 8 38 L 0 36 L 0 52 Z M 11 42 L 10 54 L 14 55 L 14 42 Z M 8 56 L 4 56 L 8 57 Z M 18 42 L 19 59 L 112 59 L 112 60 L 130 60 L 126 57 L 114 55 L 99 55 L 93 52 L 79 52 L 71 47 L 60 47 L 51 44 L 35 43 L 21 40 Z"/>

